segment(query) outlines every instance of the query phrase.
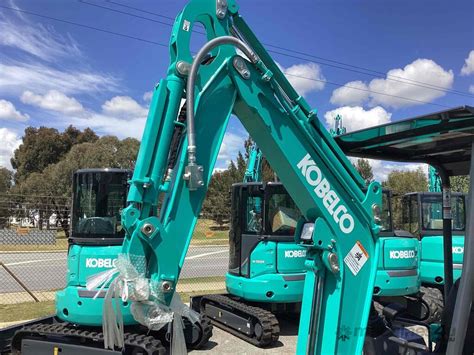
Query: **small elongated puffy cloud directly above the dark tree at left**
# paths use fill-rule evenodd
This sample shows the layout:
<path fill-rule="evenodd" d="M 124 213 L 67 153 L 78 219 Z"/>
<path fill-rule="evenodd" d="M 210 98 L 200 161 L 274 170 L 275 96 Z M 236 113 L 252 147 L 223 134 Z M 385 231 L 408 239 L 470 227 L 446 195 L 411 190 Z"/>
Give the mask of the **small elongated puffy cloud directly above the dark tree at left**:
<path fill-rule="evenodd" d="M 25 104 L 37 106 L 50 111 L 66 114 L 84 113 L 84 107 L 73 97 L 68 97 L 57 90 L 50 90 L 45 95 L 38 95 L 31 91 L 25 91 L 21 95 L 21 101 Z"/>

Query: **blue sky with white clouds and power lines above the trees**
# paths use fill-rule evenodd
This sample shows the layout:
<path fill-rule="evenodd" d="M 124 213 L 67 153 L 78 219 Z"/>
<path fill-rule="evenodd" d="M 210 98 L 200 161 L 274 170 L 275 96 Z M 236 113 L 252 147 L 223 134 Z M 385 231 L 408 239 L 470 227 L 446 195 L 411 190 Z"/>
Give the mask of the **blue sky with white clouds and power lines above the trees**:
<path fill-rule="evenodd" d="M 73 124 L 100 134 L 141 137 L 146 93 L 168 66 L 171 27 L 166 23 L 172 21 L 166 17 L 174 18 L 186 2 L 84 2 L 16 0 L 0 5 L 165 46 L 0 8 L 0 165 L 10 167 L 11 152 L 29 125 L 62 129 Z M 238 3 L 261 42 L 289 50 L 267 47 L 289 55 L 272 53 L 328 125 L 337 113 L 354 130 L 474 105 L 473 1 Z M 218 168 L 236 155 L 245 137 L 232 120 Z M 380 179 L 392 167 L 374 162 Z"/>

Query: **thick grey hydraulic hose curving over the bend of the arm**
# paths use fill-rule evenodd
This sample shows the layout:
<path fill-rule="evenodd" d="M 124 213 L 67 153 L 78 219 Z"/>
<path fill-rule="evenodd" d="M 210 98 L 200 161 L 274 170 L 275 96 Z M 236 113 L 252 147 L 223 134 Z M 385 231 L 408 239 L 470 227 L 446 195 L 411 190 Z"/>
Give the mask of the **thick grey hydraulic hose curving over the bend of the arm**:
<path fill-rule="evenodd" d="M 252 51 L 252 49 L 243 41 L 236 37 L 232 36 L 223 36 L 212 39 L 207 42 L 196 54 L 196 57 L 193 60 L 191 69 L 189 71 L 188 82 L 186 84 L 186 132 L 188 136 L 188 164 L 196 164 L 196 137 L 194 130 L 194 88 L 197 77 L 197 72 L 201 62 L 205 59 L 206 55 L 215 47 L 231 44 L 240 49 L 251 61 L 252 63 L 258 62 L 258 57 Z"/>

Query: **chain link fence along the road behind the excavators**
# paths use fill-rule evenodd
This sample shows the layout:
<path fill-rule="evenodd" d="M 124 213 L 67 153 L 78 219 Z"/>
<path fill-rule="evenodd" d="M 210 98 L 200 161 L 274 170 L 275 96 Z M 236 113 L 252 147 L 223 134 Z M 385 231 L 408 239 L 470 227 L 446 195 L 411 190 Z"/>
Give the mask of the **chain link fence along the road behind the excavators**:
<path fill-rule="evenodd" d="M 0 311 L 52 304 L 65 287 L 70 206 L 64 197 L 0 195 Z M 228 233 L 227 216 L 198 220 L 178 284 L 183 297 L 225 290 Z"/>

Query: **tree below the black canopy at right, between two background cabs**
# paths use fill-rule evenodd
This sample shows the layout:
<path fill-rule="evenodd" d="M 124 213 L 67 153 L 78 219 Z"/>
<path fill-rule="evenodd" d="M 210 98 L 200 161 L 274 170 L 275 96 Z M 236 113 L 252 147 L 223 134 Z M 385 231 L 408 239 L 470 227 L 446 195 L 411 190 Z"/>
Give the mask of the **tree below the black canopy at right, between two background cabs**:
<path fill-rule="evenodd" d="M 428 179 L 421 168 L 415 171 L 393 170 L 388 174 L 382 186 L 394 194 L 392 200 L 393 222 L 396 227 L 401 225 L 401 196 L 409 192 L 428 191 Z"/>

